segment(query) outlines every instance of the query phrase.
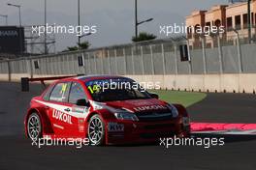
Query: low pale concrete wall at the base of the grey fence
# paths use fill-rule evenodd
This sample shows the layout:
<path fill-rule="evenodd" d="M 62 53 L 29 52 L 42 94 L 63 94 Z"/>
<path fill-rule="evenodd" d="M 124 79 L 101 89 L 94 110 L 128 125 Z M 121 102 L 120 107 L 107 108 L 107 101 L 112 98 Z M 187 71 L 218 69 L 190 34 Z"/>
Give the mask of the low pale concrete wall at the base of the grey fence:
<path fill-rule="evenodd" d="M 49 77 L 61 75 L 34 74 L 33 77 Z M 217 93 L 250 93 L 256 91 L 256 73 L 237 74 L 170 74 L 170 75 L 124 75 L 138 82 L 159 84 L 161 89 L 217 92 Z M 30 77 L 27 73 L 0 74 L 0 81 L 20 81 L 21 77 Z"/>

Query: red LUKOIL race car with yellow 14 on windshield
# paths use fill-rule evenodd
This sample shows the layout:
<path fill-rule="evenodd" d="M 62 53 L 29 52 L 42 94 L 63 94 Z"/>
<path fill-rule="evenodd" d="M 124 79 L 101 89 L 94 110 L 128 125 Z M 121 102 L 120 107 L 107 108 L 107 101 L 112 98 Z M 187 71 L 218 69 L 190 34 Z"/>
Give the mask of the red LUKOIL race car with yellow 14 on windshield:
<path fill-rule="evenodd" d="M 134 80 L 95 75 L 60 79 L 30 102 L 26 136 L 86 138 L 93 145 L 156 142 L 187 137 L 186 109 L 158 99 Z"/>

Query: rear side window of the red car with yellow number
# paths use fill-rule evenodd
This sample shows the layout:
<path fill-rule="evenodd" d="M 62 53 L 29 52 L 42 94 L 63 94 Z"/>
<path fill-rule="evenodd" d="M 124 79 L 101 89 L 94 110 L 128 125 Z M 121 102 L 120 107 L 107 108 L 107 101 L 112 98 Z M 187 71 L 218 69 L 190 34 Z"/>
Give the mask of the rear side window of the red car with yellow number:
<path fill-rule="evenodd" d="M 58 83 L 53 88 L 49 100 L 66 102 L 68 100 L 68 92 L 70 88 L 70 83 Z"/>

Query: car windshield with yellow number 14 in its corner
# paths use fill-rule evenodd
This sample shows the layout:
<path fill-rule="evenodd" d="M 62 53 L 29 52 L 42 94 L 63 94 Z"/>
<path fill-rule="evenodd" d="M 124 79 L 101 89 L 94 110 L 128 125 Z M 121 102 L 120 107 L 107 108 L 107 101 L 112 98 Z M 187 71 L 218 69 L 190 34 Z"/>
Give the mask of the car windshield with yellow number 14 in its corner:
<path fill-rule="evenodd" d="M 100 79 L 86 82 L 86 88 L 95 101 L 150 99 L 147 92 L 128 78 Z"/>

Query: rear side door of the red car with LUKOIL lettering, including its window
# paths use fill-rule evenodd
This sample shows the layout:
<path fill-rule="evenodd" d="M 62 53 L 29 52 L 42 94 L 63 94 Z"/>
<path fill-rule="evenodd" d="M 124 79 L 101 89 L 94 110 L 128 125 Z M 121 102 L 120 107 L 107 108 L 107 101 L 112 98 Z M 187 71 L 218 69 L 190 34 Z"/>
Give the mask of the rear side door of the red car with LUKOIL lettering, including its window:
<path fill-rule="evenodd" d="M 56 137 L 69 137 L 74 124 L 72 104 L 68 102 L 70 82 L 59 82 L 52 89 L 48 99 L 48 117 Z"/>

